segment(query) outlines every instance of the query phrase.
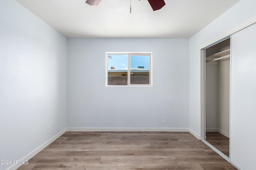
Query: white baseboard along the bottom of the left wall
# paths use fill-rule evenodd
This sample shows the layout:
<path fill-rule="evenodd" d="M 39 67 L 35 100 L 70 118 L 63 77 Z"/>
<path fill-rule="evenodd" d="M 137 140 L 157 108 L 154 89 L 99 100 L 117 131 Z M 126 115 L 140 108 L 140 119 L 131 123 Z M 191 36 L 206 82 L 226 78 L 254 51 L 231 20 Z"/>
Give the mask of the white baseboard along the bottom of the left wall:
<path fill-rule="evenodd" d="M 55 141 L 56 139 L 58 139 L 58 137 L 60 137 L 61 135 L 63 135 L 65 132 L 67 131 L 67 128 L 64 129 L 63 131 L 61 131 L 60 133 L 58 133 L 57 135 L 55 135 L 54 137 L 52 137 L 51 139 L 49 139 L 48 141 L 46 141 L 46 143 L 44 143 L 43 145 L 41 145 L 40 147 L 38 147 L 37 149 L 33 150 L 31 153 L 29 153 L 28 155 L 26 155 L 24 158 L 22 158 L 20 161 L 26 161 L 26 160 L 30 160 L 33 156 L 35 156 L 36 154 L 38 154 L 41 150 L 43 150 L 45 147 L 47 147 L 48 145 L 50 145 L 53 141 Z M 22 164 L 14 164 L 13 166 L 11 166 L 10 168 L 8 168 L 8 170 L 16 170 L 17 168 L 19 168 L 20 166 L 22 166 Z"/>

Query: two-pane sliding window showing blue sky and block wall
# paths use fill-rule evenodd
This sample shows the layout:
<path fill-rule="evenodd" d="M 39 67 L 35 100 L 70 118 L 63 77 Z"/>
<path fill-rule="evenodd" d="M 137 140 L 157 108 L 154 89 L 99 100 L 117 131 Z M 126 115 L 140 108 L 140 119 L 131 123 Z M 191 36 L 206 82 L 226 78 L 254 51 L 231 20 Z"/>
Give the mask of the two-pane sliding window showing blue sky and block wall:
<path fill-rule="evenodd" d="M 107 86 L 151 86 L 152 53 L 106 53 Z"/>

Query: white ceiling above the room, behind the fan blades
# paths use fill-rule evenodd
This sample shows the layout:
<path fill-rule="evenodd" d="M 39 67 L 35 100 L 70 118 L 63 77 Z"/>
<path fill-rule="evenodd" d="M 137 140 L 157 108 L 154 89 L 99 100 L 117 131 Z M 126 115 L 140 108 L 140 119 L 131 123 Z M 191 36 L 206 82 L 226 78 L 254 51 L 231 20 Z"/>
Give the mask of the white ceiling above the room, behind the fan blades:
<path fill-rule="evenodd" d="M 17 0 L 69 38 L 189 38 L 239 0 Z"/>

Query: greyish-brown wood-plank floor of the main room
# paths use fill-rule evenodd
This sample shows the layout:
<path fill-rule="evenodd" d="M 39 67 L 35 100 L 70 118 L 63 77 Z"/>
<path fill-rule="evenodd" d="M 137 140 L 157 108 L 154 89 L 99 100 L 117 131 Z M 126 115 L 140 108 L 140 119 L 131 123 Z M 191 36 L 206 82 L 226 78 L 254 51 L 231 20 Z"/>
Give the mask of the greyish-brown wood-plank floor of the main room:
<path fill-rule="evenodd" d="M 234 170 L 188 132 L 66 132 L 18 170 Z"/>

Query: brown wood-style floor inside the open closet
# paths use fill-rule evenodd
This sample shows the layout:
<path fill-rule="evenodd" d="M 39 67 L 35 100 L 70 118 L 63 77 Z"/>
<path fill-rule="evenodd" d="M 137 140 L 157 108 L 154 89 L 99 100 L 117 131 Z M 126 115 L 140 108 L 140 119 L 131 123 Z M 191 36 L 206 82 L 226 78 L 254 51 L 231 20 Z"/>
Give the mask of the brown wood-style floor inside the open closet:
<path fill-rule="evenodd" d="M 206 141 L 229 157 L 229 138 L 218 132 L 206 132 Z"/>

